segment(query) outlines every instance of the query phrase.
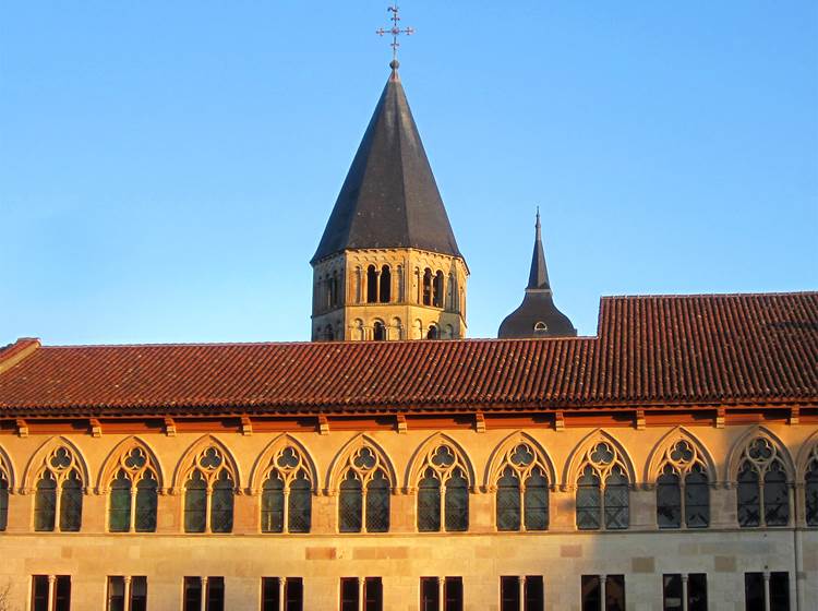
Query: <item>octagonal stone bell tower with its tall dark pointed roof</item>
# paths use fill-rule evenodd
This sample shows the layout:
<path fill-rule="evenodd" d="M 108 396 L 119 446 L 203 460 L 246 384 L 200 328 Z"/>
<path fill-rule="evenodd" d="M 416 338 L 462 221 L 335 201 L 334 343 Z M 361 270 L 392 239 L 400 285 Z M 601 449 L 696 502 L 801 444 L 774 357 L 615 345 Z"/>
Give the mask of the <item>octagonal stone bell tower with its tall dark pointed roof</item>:
<path fill-rule="evenodd" d="M 389 67 L 311 261 L 313 342 L 466 335 L 469 269 Z"/>

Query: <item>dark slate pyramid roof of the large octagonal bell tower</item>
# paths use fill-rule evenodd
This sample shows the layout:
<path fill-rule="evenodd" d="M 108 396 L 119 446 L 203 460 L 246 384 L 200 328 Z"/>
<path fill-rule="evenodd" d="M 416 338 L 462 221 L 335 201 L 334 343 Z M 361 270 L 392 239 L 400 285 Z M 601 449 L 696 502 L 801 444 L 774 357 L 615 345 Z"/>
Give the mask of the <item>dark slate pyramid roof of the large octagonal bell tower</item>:
<path fill-rule="evenodd" d="M 346 249 L 377 248 L 462 256 L 397 68 L 386 82 L 312 262 Z"/>

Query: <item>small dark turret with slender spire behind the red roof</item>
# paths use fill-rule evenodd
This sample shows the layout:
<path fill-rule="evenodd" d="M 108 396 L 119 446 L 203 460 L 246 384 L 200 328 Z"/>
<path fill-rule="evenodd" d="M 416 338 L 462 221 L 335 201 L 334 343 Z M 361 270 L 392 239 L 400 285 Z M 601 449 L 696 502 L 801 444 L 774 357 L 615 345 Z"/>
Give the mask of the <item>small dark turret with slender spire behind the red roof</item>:
<path fill-rule="evenodd" d="M 508 314 L 500 325 L 497 336 L 501 339 L 513 337 L 575 337 L 577 330 L 554 306 L 549 283 L 549 269 L 545 266 L 545 251 L 542 248 L 540 211 L 537 209 L 537 237 L 534 253 L 531 257 L 531 273 L 528 276 L 526 297 L 514 312 Z"/>

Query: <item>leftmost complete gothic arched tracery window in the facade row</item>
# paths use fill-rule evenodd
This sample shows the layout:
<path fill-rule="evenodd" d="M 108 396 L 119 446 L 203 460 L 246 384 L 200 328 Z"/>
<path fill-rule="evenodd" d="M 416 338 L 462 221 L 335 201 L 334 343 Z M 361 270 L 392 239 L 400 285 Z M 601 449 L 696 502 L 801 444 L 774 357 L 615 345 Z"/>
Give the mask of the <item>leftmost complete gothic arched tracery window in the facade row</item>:
<path fill-rule="evenodd" d="M 56 447 L 45 462 L 34 498 L 34 529 L 75 532 L 82 525 L 83 480 L 76 456 Z"/>

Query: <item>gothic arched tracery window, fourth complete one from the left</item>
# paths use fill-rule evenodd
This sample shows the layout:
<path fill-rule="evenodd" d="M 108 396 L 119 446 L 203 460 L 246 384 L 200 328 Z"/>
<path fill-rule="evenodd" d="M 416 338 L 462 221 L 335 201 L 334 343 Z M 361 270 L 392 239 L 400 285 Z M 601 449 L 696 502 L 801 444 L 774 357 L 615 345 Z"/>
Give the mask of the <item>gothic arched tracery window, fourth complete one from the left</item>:
<path fill-rule="evenodd" d="M 302 454 L 281 448 L 270 462 L 262 488 L 262 532 L 309 532 L 312 518 L 312 481 Z"/>

